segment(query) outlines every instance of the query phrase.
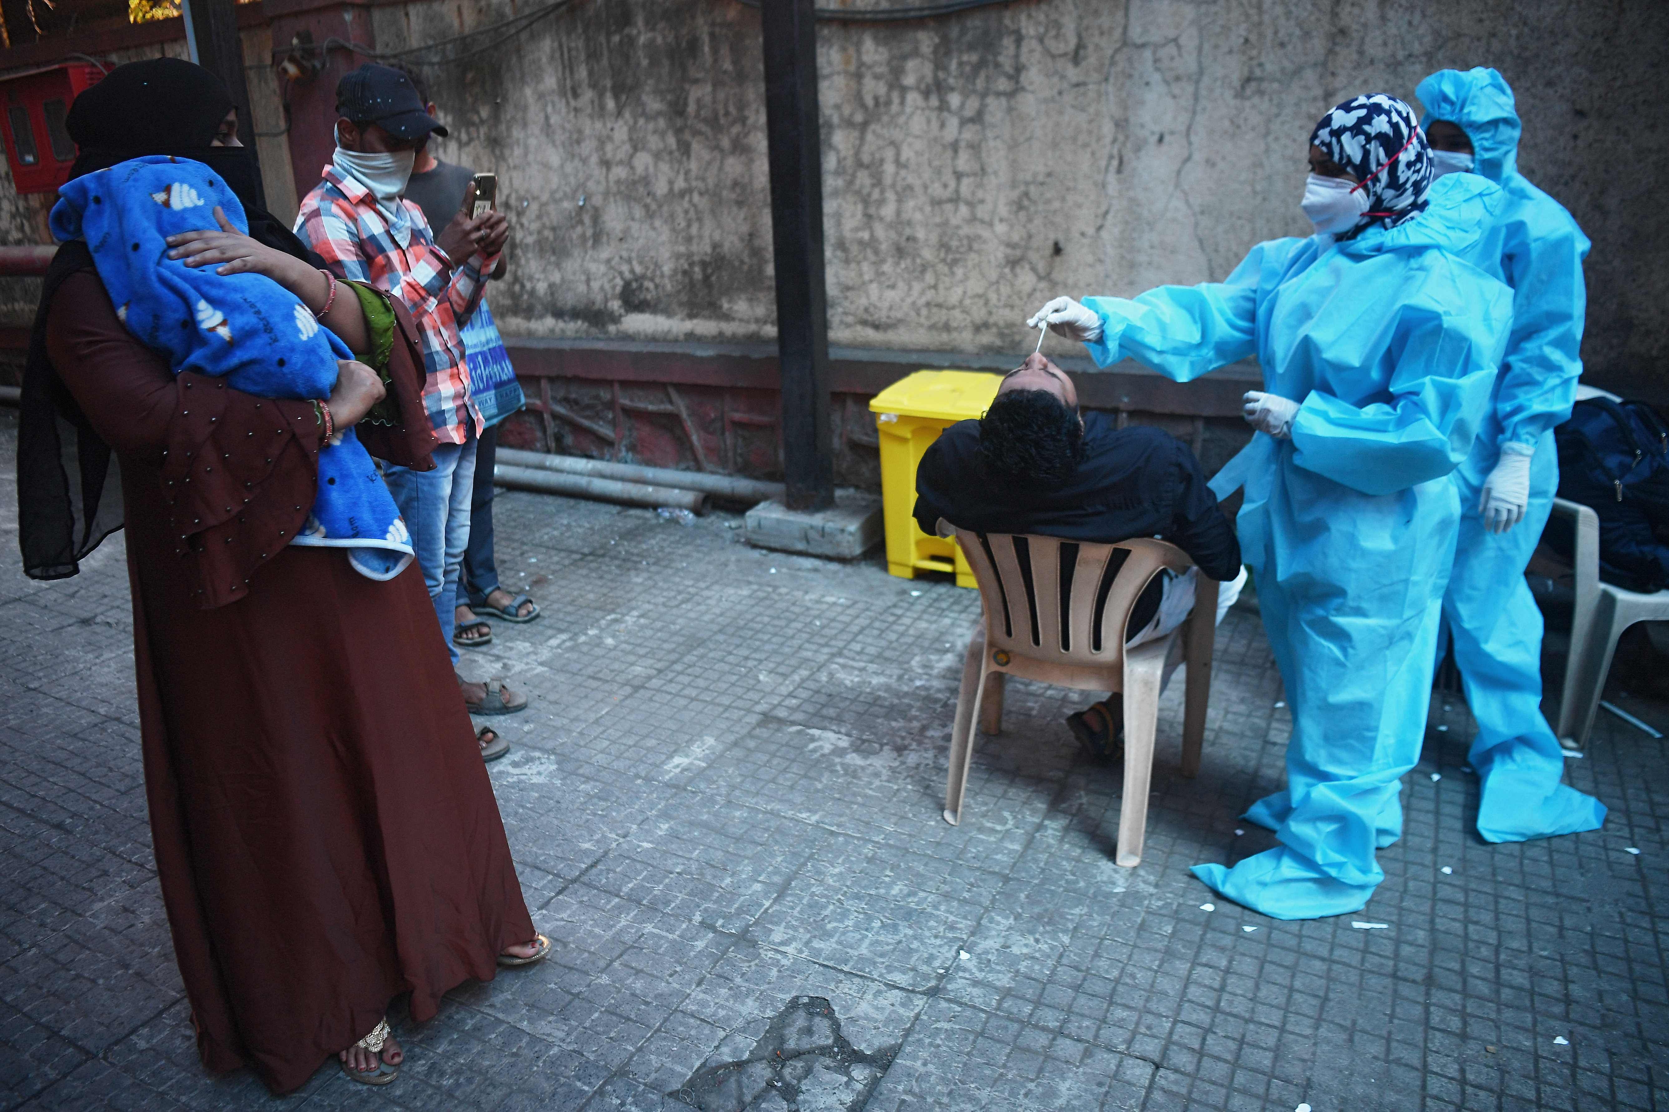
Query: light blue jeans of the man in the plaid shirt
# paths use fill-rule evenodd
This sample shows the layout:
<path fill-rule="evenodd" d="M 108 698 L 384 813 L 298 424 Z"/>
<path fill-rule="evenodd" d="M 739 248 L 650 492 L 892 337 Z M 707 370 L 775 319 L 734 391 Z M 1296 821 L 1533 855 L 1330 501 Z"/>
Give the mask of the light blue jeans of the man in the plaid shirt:
<path fill-rule="evenodd" d="M 434 450 L 434 470 L 387 467 L 382 472 L 394 503 L 401 507 L 406 528 L 412 535 L 417 565 L 422 569 L 434 617 L 439 622 L 446 652 L 457 664 L 452 644 L 457 599 L 457 575 L 469 547 L 469 498 L 476 485 L 476 437 L 464 443 L 442 443 Z"/>

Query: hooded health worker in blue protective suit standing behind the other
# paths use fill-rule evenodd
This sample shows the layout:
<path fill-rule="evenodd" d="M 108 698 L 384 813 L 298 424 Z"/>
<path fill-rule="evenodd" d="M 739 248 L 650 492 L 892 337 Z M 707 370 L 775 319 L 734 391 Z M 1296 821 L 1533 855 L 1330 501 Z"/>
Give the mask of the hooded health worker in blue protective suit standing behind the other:
<path fill-rule="evenodd" d="M 1571 417 L 1582 373 L 1587 237 L 1571 213 L 1519 173 L 1519 113 L 1495 70 L 1439 70 L 1417 90 L 1437 173 L 1472 172 L 1505 205 L 1477 252 L 1514 288 L 1512 335 L 1490 412 L 1454 472 L 1460 538 L 1444 595 L 1477 737 L 1477 832 L 1522 842 L 1597 830 L 1606 805 L 1562 784 L 1564 754 L 1542 717 L 1542 615 L 1524 582 L 1559 487 L 1554 425 Z"/>

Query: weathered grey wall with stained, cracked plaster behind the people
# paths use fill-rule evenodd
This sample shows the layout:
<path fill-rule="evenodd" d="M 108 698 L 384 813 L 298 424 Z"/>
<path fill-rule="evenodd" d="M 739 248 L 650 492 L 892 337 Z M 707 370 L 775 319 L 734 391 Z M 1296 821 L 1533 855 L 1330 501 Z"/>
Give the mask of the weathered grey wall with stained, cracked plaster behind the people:
<path fill-rule="evenodd" d="M 509 12 L 382 7 L 377 40 Z M 1519 92 L 1524 170 L 1594 238 L 1591 377 L 1669 400 L 1666 43 L 1662 0 L 1018 0 L 823 23 L 831 340 L 1016 352 L 1045 297 L 1222 277 L 1307 230 L 1303 140 L 1329 105 L 1484 63 Z M 444 155 L 497 170 L 517 220 L 507 328 L 771 335 L 756 12 L 581 0 L 427 73 Z"/>

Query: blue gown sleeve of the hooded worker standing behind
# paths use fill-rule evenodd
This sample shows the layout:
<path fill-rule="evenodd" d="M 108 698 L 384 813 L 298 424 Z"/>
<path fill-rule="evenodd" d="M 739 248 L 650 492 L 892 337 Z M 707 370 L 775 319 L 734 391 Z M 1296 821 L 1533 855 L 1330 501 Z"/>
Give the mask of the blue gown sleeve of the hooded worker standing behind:
<path fill-rule="evenodd" d="M 1519 250 L 1512 252 L 1509 243 L 1507 258 L 1512 338 L 1495 392 L 1495 417 L 1500 443 L 1534 447 L 1542 433 L 1569 420 L 1576 400 L 1587 317 L 1582 258 L 1589 243 L 1557 205 L 1532 208 L 1514 232 Z"/>

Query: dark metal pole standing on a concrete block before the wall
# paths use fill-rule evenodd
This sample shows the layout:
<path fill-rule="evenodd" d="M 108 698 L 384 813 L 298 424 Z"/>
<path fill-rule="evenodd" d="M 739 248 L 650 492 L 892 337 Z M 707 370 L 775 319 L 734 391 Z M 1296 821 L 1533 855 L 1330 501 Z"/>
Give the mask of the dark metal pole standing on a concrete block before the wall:
<path fill-rule="evenodd" d="M 791 510 L 823 510 L 834 503 L 818 42 L 811 5 L 813 0 L 764 0 L 761 5 L 776 342 L 783 378 L 783 477 Z"/>

